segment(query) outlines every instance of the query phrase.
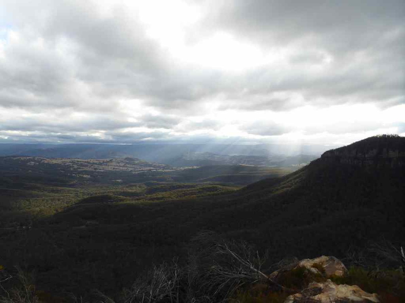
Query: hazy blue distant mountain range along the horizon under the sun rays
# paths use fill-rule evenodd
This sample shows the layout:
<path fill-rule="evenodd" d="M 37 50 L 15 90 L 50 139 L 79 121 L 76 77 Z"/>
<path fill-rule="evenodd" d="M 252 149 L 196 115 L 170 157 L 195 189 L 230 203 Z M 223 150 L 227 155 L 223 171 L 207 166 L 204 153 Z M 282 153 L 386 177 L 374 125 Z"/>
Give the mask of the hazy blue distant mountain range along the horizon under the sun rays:
<path fill-rule="evenodd" d="M 314 148 L 302 146 L 282 155 L 276 145 L 226 144 L 0 144 L 0 156 L 45 158 L 114 159 L 138 158 L 171 166 L 255 165 L 300 166 L 318 156 Z M 316 148 L 315 148 L 316 149 Z M 312 152 L 312 154 L 309 154 Z"/>

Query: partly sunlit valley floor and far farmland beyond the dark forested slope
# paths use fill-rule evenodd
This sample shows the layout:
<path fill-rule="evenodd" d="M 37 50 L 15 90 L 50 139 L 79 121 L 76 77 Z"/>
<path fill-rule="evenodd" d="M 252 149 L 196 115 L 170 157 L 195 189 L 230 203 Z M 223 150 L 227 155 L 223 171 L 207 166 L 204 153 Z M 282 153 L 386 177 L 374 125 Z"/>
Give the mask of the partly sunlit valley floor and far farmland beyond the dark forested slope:
<path fill-rule="evenodd" d="M 31 226 L 76 203 L 108 203 L 105 195 L 115 203 L 194 198 L 230 192 L 291 170 L 240 165 L 179 169 L 134 158 L 0 157 L 0 171 L 0 228 L 15 228 Z"/>

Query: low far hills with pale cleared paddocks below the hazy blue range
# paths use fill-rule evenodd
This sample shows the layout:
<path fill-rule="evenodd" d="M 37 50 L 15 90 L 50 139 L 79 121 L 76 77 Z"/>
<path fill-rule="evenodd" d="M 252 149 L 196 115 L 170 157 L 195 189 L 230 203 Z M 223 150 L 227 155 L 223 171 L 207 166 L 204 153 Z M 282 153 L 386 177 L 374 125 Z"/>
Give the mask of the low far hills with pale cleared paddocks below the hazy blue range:
<path fill-rule="evenodd" d="M 130 184 L 156 182 L 226 182 L 247 185 L 265 178 L 290 173 L 298 167 L 266 167 L 247 165 L 211 165 L 202 167 L 171 167 L 137 158 L 75 159 L 28 156 L 0 157 L 0 188 L 3 183 L 18 180 L 41 184 Z M 14 185 L 15 186 L 15 185 Z"/>

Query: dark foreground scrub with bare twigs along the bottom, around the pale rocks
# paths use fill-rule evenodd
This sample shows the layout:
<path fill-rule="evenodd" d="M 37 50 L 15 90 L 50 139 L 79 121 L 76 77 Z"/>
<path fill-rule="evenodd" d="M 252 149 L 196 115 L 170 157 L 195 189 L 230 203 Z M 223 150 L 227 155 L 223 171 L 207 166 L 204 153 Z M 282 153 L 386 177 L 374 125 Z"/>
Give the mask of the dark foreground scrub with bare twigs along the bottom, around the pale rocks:
<path fill-rule="evenodd" d="M 344 276 L 328 278 L 320 264 L 312 266 L 321 272 L 314 274 L 304 267 L 294 267 L 296 263 L 292 261 L 291 264 L 271 265 L 268 270 L 277 270 L 278 274 L 269 278 L 263 272 L 263 268 L 271 263 L 269 261 L 246 242 L 226 241 L 212 233 L 201 233 L 190 242 L 184 260 L 175 258 L 151 266 L 116 298 L 93 290 L 87 293 L 85 301 L 283 303 L 291 294 L 308 293 L 310 283 L 322 283 L 327 279 L 377 293 L 382 303 L 405 299 L 405 275 L 397 270 L 353 266 Z M 63 298 L 37 289 L 32 273 L 17 268 L 14 275 L 0 266 L 0 289 L 3 290 L 3 293 L 0 291 L 0 302 L 78 302 L 74 294 Z M 81 297 L 80 302 L 83 302 Z"/>

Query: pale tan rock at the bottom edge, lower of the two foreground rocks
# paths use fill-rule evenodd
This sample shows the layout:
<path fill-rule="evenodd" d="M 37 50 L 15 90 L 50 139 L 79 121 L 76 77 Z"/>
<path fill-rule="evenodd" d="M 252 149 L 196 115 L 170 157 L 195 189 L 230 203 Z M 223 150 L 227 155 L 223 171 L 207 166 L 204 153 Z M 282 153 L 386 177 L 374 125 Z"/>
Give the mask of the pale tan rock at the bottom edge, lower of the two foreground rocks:
<path fill-rule="evenodd" d="M 313 282 L 300 293 L 290 295 L 284 303 L 366 303 L 379 302 L 377 294 L 365 292 L 357 285 L 336 285 L 327 280 L 323 283 Z"/>

